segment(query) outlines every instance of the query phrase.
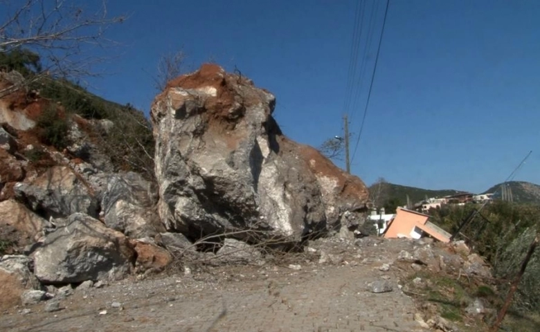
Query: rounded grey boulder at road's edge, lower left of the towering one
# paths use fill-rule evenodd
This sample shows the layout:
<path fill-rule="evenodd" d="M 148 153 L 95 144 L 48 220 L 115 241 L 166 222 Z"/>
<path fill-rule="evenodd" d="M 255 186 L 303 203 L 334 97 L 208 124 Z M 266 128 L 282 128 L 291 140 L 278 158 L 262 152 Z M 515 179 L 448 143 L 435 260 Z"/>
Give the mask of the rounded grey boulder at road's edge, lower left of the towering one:
<path fill-rule="evenodd" d="M 123 279 L 136 258 L 124 234 L 86 214 L 69 216 L 33 254 L 35 275 L 44 284 Z"/>

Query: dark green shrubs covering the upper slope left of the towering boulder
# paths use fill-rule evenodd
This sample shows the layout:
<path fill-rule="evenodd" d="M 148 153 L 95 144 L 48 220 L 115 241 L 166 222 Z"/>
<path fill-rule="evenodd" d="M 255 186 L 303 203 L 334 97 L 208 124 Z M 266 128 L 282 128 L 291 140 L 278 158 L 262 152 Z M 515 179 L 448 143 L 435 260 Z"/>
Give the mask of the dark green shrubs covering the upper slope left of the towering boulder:
<path fill-rule="evenodd" d="M 84 129 L 92 131 L 94 143 L 109 156 L 116 170 L 140 172 L 153 178 L 154 137 L 143 112 L 129 104 L 104 100 L 73 82 L 37 75 L 41 68 L 39 55 L 28 50 L 16 49 L 0 55 L 0 68 L 19 71 L 30 82 L 30 89 L 51 101 L 37 121 L 42 142 L 57 149 L 68 146 L 67 133 L 74 115 L 87 120 L 110 120 L 114 126 L 109 131 L 96 130 L 95 126 Z"/>

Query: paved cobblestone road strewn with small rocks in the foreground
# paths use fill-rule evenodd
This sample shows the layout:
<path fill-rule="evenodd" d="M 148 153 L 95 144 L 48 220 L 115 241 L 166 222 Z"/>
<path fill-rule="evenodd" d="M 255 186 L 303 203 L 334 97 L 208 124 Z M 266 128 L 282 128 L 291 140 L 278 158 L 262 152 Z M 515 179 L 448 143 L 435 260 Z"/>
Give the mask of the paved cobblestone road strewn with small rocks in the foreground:
<path fill-rule="evenodd" d="M 124 281 L 75 291 L 55 313 L 44 312 L 44 304 L 30 307 L 27 315 L 13 310 L 0 318 L 0 330 L 424 331 L 413 320 L 413 300 L 397 288 L 397 268 L 378 269 L 397 252 L 393 248 L 370 259 L 357 255 L 357 261 L 337 265 L 306 261 L 301 270 L 244 266 L 204 277 Z M 367 284 L 382 277 L 394 291 L 370 293 Z M 112 302 L 122 308 L 112 308 Z M 104 310 L 107 314 L 100 315 Z"/>

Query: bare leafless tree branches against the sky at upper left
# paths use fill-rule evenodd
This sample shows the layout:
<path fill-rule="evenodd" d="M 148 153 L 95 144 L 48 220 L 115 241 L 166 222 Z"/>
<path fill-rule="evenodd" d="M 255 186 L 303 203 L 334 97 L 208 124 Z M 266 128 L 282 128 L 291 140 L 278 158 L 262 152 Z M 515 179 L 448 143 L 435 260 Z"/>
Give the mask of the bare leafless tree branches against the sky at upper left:
<path fill-rule="evenodd" d="M 69 80 L 95 75 L 91 66 L 103 60 L 93 57 L 91 48 L 114 44 L 105 32 L 122 23 L 124 16 L 110 17 L 105 1 L 98 9 L 74 0 L 0 0 L 0 53 L 17 49 L 39 55 L 41 71 L 14 86 L 0 90 L 0 96 L 43 77 Z"/>

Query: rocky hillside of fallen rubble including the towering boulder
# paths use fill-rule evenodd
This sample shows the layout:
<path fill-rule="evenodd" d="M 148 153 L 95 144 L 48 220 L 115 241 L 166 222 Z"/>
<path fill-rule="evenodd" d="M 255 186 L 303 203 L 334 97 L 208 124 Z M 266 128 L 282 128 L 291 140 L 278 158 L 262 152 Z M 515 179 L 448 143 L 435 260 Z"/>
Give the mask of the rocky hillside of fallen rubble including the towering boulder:
<path fill-rule="evenodd" d="M 21 80 L 0 73 L 0 87 Z M 159 271 L 174 250 L 262 255 L 256 248 L 330 232 L 354 238 L 366 186 L 284 136 L 274 105 L 268 91 L 213 65 L 156 97 L 153 130 L 129 105 L 69 82 L 4 95 L 0 307 L 62 293 L 55 286 Z"/>

